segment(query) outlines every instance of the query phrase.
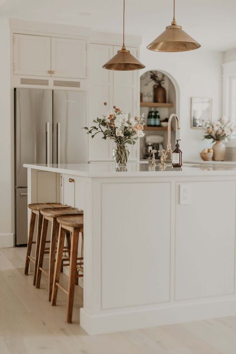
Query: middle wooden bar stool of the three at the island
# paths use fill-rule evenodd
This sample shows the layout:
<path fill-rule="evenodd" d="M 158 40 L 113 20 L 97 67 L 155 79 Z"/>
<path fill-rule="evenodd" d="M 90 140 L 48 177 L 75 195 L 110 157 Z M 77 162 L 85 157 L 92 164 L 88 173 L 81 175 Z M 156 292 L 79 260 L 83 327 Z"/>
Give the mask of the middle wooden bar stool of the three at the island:
<path fill-rule="evenodd" d="M 83 215 L 83 211 L 76 208 L 46 208 L 41 209 L 40 214 L 43 216 L 42 221 L 42 233 L 40 238 L 40 246 L 39 246 L 39 256 L 38 256 L 38 264 L 37 264 L 37 275 L 36 275 L 36 288 L 40 287 L 41 274 L 42 272 L 48 276 L 48 300 L 51 301 L 52 295 L 52 285 L 53 285 L 53 275 L 54 275 L 54 267 L 55 267 L 55 255 L 56 255 L 56 243 L 58 237 L 59 224 L 57 222 L 57 218 L 60 216 L 71 216 L 71 215 Z M 47 254 L 47 248 L 45 247 L 46 237 L 47 237 L 47 229 L 48 222 L 51 222 L 51 237 L 50 237 L 50 250 L 49 250 L 49 267 L 48 271 L 43 269 L 43 258 L 44 254 Z M 70 254 L 70 234 L 67 235 L 67 246 L 63 247 L 64 252 L 68 252 Z M 64 257 L 63 262 L 68 261 L 69 257 Z"/>

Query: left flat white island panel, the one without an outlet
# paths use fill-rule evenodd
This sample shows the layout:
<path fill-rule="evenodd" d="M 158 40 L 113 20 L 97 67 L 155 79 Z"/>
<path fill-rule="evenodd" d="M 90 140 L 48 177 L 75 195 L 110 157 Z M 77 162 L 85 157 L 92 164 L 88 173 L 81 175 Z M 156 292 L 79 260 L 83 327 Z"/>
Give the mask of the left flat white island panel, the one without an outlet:
<path fill-rule="evenodd" d="M 101 187 L 102 309 L 170 301 L 171 183 Z"/>

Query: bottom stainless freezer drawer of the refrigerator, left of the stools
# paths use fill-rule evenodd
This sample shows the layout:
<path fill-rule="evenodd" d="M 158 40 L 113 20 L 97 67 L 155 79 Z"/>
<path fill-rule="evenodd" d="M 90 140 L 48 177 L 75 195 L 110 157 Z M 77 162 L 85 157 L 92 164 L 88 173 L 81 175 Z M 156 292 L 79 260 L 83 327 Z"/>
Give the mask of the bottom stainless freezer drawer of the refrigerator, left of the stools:
<path fill-rule="evenodd" d="M 15 244 L 27 244 L 27 188 L 15 189 Z"/>

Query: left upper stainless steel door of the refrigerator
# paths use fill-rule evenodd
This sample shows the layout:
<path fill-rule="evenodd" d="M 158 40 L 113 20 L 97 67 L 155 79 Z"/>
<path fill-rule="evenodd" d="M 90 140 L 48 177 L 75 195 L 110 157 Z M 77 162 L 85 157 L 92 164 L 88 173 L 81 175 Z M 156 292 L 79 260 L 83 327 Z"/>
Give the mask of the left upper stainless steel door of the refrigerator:
<path fill-rule="evenodd" d="M 15 89 L 15 185 L 27 186 L 23 163 L 52 163 L 52 90 Z"/>

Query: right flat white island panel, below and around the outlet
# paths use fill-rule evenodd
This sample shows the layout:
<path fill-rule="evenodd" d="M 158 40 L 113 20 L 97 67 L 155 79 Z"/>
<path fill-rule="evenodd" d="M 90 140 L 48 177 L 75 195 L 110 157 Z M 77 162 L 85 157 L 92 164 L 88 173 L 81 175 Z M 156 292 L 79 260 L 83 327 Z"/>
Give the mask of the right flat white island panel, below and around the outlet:
<path fill-rule="evenodd" d="M 191 187 L 192 203 L 176 207 L 175 299 L 233 295 L 235 181 L 192 182 Z"/>

